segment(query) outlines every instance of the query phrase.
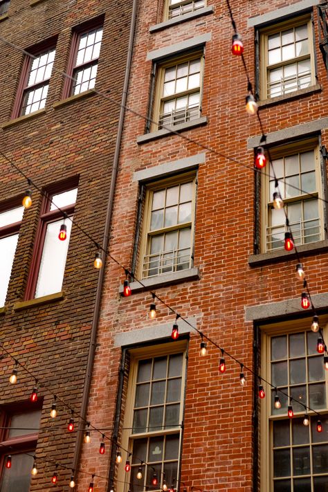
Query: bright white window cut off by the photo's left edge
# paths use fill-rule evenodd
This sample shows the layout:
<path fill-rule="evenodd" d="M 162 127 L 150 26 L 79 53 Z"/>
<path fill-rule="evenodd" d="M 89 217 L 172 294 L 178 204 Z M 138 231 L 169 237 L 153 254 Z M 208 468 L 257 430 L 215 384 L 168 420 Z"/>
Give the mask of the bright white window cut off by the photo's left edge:
<path fill-rule="evenodd" d="M 24 207 L 0 212 L 0 307 L 3 307 L 6 301 L 23 213 Z"/>

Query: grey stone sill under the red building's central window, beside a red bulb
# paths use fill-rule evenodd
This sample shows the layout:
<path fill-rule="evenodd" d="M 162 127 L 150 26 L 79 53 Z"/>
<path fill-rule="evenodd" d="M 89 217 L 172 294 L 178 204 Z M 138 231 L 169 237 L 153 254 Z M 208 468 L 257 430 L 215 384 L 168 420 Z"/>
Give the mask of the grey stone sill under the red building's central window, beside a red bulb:
<path fill-rule="evenodd" d="M 133 293 L 141 292 L 149 289 L 159 289 L 166 285 L 180 284 L 182 282 L 188 282 L 190 280 L 199 280 L 199 268 L 189 268 L 188 270 L 181 270 L 179 272 L 164 273 L 158 275 L 158 277 L 143 278 L 141 282 L 145 287 L 141 286 L 139 282 L 131 282 L 130 287 Z M 120 285 L 119 293 L 123 293 L 123 285 Z"/>

